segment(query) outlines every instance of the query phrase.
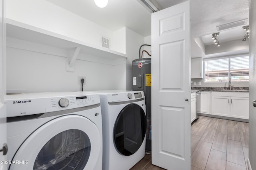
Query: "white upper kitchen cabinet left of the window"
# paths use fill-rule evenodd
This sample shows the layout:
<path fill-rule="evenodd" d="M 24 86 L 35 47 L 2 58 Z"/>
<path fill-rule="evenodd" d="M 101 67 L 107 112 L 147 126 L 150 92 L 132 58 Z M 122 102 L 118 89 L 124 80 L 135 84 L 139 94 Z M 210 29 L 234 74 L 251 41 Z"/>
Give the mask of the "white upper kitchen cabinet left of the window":
<path fill-rule="evenodd" d="M 204 78 L 203 61 L 201 57 L 191 59 L 191 78 Z"/>

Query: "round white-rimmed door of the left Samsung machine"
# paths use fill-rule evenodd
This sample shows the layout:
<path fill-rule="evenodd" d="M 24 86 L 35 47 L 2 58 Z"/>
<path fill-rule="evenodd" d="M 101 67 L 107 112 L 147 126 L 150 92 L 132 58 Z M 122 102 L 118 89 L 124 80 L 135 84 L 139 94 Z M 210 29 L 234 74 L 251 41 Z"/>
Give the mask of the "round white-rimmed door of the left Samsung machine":
<path fill-rule="evenodd" d="M 9 170 L 93 170 L 101 163 L 102 134 L 92 121 L 80 115 L 64 115 L 42 118 L 38 123 L 46 120 L 25 139 L 12 158 L 28 163 L 10 164 Z M 100 123 L 101 117 L 94 120 Z M 27 121 L 26 127 L 37 123 L 34 121 Z"/>

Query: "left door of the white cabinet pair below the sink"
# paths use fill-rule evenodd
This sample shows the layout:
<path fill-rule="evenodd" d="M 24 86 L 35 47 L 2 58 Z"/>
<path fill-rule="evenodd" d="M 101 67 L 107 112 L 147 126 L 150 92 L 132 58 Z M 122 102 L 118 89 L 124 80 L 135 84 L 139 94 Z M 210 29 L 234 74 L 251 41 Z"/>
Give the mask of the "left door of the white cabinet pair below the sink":
<path fill-rule="evenodd" d="M 230 97 L 212 96 L 212 115 L 230 117 Z"/>

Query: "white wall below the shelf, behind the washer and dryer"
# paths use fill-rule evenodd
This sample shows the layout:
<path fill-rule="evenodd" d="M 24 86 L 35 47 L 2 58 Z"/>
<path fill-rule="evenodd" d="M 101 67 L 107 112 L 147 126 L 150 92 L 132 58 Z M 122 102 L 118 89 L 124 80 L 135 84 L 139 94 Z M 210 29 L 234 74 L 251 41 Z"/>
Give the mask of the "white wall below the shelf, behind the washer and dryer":
<path fill-rule="evenodd" d="M 125 64 L 112 66 L 76 60 L 74 72 L 66 72 L 66 57 L 62 56 L 68 54 L 68 51 L 26 41 L 15 41 L 22 43 L 18 49 L 11 47 L 10 38 L 7 40 L 7 90 L 22 89 L 27 93 L 76 92 L 81 90 L 78 76 L 86 76 L 84 91 L 125 90 Z M 40 50 L 24 50 L 22 47 L 25 43 L 33 46 L 33 49 Z M 83 55 L 80 53 L 78 57 Z"/>

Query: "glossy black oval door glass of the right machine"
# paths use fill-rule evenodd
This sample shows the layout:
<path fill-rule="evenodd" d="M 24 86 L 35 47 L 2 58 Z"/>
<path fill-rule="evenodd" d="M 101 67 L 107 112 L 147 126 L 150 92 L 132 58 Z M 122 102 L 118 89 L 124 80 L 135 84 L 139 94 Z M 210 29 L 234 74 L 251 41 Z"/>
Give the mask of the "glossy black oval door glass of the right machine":
<path fill-rule="evenodd" d="M 116 150 L 126 156 L 134 154 L 144 141 L 146 126 L 146 115 L 142 107 L 137 104 L 124 107 L 114 125 Z"/>

